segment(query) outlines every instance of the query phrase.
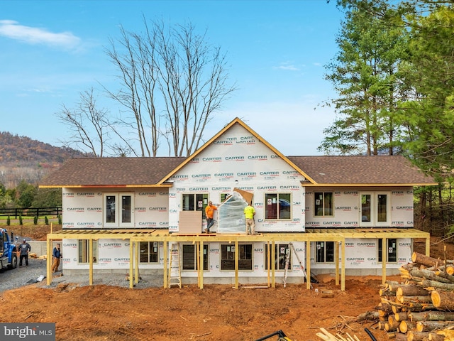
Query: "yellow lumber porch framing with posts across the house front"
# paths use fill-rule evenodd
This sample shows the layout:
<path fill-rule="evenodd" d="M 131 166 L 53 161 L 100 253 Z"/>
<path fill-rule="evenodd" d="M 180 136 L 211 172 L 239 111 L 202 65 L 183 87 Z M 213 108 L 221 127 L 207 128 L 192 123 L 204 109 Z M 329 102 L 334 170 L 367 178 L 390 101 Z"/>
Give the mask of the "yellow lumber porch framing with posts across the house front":
<path fill-rule="evenodd" d="M 275 242 L 304 242 L 306 245 L 306 288 L 311 288 L 311 242 L 334 242 L 334 259 L 341 261 L 336 264 L 336 285 L 339 285 L 341 275 L 341 290 L 345 291 L 345 239 L 382 239 L 382 245 L 386 245 L 387 239 L 410 238 L 426 239 L 426 256 L 430 255 L 430 234 L 417 229 L 306 229 L 305 232 L 292 233 L 262 233 L 258 235 L 245 234 L 179 234 L 169 233 L 168 229 L 62 229 L 57 232 L 50 232 L 47 237 L 47 284 L 52 283 L 52 242 L 61 239 L 129 239 L 129 287 L 133 288 L 134 282 L 138 283 L 139 278 L 139 242 L 162 242 L 163 243 L 163 272 L 164 287 L 167 288 L 168 271 L 168 250 L 169 243 L 188 242 L 196 245 L 197 264 L 204 264 L 203 247 L 206 242 L 224 242 L 234 244 L 235 247 L 235 288 L 239 288 L 238 280 L 238 244 L 240 242 L 264 242 L 267 247 L 271 246 L 271 253 L 268 252 L 268 283 L 275 288 Z M 135 249 L 134 249 L 135 246 Z M 269 250 L 269 249 L 268 249 Z M 134 252 L 135 251 L 135 252 Z M 386 281 L 387 248 L 382 247 L 382 283 Z M 340 264 L 339 264 L 340 263 Z M 339 267 L 340 265 L 340 267 Z M 271 267 L 271 269 L 270 269 Z M 198 266 L 197 274 L 199 288 L 204 288 L 204 275 L 201 266 Z M 89 242 L 89 285 L 93 285 L 93 243 Z"/>

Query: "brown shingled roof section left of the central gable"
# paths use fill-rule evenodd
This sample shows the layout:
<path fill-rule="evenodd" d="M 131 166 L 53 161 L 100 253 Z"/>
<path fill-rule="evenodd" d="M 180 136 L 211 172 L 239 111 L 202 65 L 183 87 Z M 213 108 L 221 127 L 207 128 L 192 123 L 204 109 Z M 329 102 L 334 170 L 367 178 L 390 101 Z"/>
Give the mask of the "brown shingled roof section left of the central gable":
<path fill-rule="evenodd" d="M 157 183 L 185 159 L 72 158 L 44 178 L 40 188 L 163 187 Z"/>

